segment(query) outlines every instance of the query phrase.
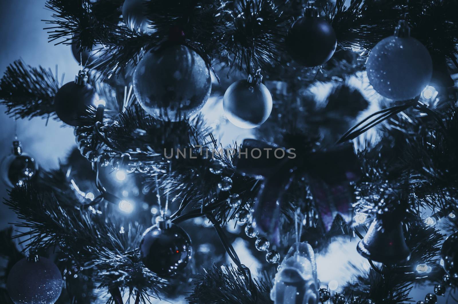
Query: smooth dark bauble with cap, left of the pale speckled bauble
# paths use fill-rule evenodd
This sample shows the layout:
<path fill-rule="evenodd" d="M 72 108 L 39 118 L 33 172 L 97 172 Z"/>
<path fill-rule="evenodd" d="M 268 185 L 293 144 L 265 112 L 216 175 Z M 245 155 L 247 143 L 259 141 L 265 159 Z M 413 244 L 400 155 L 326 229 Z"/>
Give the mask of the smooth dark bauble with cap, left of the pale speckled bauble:
<path fill-rule="evenodd" d="M 309 2 L 305 16 L 293 23 L 286 36 L 291 57 L 304 66 L 322 65 L 331 59 L 337 39 L 333 27 L 318 16 Z"/>

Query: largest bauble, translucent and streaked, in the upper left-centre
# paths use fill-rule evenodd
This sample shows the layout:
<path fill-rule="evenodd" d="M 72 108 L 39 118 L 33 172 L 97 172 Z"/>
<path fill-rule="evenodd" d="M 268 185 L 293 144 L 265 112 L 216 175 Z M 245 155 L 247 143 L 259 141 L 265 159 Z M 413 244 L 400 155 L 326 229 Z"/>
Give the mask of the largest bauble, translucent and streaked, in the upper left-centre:
<path fill-rule="evenodd" d="M 184 45 L 148 51 L 136 67 L 133 82 L 142 108 L 155 118 L 171 121 L 202 109 L 212 89 L 207 64 Z"/>

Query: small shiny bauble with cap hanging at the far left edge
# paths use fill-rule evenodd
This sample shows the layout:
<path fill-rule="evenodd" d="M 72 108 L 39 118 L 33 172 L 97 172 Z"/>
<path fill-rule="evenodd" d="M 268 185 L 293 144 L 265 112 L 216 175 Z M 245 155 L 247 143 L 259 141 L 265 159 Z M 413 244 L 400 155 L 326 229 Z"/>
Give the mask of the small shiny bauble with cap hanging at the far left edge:
<path fill-rule="evenodd" d="M 13 153 L 2 160 L 0 168 L 5 184 L 14 187 L 32 179 L 38 171 L 38 164 L 33 157 L 22 151 L 19 141 L 13 141 Z"/>

